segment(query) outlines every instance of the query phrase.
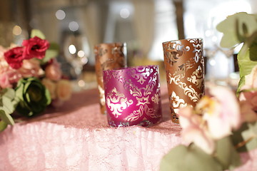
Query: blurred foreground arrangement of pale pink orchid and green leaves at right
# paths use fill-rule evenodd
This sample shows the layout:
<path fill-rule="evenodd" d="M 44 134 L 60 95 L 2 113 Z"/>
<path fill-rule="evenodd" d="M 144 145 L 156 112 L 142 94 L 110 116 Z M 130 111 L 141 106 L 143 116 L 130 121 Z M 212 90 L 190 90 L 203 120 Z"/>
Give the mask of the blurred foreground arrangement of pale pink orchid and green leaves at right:
<path fill-rule="evenodd" d="M 179 110 L 182 138 L 161 160 L 161 170 L 233 170 L 241 152 L 257 147 L 257 15 L 238 13 L 216 27 L 221 46 L 243 43 L 238 53 L 241 80 L 237 92 L 206 84 L 195 108 Z"/>

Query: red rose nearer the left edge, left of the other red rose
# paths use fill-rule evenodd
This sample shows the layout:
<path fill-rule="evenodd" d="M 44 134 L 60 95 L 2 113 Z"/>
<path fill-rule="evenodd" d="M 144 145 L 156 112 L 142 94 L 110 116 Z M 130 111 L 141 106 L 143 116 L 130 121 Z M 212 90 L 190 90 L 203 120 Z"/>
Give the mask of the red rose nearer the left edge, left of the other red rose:
<path fill-rule="evenodd" d="M 23 53 L 23 47 L 11 48 L 9 51 L 4 53 L 4 58 L 11 68 L 19 69 L 21 68 L 22 61 L 24 60 Z"/>

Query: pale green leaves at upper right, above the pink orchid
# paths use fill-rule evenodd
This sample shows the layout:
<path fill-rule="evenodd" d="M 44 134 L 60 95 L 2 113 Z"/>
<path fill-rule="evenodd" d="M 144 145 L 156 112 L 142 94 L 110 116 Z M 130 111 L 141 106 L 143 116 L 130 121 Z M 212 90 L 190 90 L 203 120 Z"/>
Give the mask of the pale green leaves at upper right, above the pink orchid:
<path fill-rule="evenodd" d="M 238 84 L 239 91 L 245 83 L 245 76 L 257 65 L 257 14 L 245 12 L 233 14 L 216 28 L 223 33 L 221 38 L 223 48 L 233 48 L 243 43 L 237 58 L 241 78 Z"/>

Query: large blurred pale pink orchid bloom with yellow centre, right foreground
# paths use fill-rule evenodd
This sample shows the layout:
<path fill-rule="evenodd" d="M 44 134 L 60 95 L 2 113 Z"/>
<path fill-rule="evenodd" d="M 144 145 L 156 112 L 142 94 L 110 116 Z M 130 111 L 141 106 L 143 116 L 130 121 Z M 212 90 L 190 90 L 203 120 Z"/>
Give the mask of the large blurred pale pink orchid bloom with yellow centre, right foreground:
<path fill-rule="evenodd" d="M 207 93 L 196 108 L 179 110 L 182 136 L 194 142 L 206 153 L 215 150 L 215 141 L 231 135 L 241 125 L 241 114 L 236 95 L 228 88 L 206 84 Z"/>

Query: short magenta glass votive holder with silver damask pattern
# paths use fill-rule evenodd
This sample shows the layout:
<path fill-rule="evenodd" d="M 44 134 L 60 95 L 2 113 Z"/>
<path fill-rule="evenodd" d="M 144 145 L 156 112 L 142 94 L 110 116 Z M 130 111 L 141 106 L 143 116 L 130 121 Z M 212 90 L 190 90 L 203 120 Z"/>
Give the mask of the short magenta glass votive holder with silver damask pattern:
<path fill-rule="evenodd" d="M 151 126 L 161 120 L 158 66 L 104 71 L 106 113 L 113 127 Z"/>

